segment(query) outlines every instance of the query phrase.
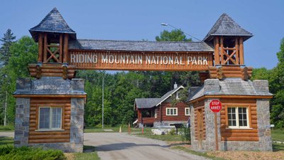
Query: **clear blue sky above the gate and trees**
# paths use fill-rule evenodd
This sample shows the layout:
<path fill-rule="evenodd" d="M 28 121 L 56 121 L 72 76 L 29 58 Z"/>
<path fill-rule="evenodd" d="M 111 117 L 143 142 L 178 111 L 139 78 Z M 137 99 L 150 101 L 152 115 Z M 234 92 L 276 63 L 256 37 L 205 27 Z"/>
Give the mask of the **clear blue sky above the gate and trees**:
<path fill-rule="evenodd" d="M 253 37 L 244 43 L 245 63 L 271 69 L 284 37 L 284 1 L 1 1 L 0 36 L 11 28 L 17 38 L 57 7 L 77 38 L 155 41 L 166 22 L 203 39 L 221 14 L 226 13 Z"/>

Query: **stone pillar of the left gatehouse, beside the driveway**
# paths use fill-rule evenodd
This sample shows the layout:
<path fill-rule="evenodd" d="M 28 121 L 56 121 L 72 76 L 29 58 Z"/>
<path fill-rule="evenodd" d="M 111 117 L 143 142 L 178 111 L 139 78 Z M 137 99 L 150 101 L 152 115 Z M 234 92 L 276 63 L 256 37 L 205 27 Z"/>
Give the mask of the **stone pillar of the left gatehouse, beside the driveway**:
<path fill-rule="evenodd" d="M 84 83 L 83 83 L 84 86 Z M 84 98 L 71 98 L 70 144 L 72 151 L 82 152 L 84 143 Z"/>

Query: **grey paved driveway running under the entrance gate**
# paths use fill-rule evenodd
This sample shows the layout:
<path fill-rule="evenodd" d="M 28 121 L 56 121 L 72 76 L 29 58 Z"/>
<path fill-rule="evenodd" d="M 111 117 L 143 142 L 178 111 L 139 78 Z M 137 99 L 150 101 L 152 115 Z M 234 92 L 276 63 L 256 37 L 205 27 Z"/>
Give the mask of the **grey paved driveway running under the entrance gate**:
<path fill-rule="evenodd" d="M 13 132 L 0 132 L 0 136 L 13 137 Z M 84 145 L 96 146 L 102 160 L 204 159 L 202 156 L 170 149 L 166 142 L 126 133 L 85 133 Z"/>

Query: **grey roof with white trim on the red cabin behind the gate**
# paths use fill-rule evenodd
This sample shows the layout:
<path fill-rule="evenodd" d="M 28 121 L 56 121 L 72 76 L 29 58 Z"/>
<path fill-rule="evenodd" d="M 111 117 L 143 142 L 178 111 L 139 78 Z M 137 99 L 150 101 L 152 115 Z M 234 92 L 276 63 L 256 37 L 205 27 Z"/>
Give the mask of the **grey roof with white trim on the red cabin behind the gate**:
<path fill-rule="evenodd" d="M 184 87 L 180 85 L 180 87 L 175 88 L 174 90 L 170 90 L 169 92 L 165 93 L 160 98 L 136 98 L 135 104 L 137 108 L 152 108 L 155 106 L 160 105 L 162 102 L 168 99 L 168 97 L 172 96 L 175 92 L 177 92 L 180 89 L 183 89 Z"/>

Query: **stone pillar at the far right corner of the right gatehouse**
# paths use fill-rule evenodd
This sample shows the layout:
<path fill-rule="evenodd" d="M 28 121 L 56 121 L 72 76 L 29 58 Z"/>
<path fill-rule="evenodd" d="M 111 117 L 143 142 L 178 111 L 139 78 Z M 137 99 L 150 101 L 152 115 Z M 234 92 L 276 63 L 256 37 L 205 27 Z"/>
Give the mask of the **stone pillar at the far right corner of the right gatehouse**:
<path fill-rule="evenodd" d="M 272 151 L 269 99 L 256 100 L 259 150 Z"/>

